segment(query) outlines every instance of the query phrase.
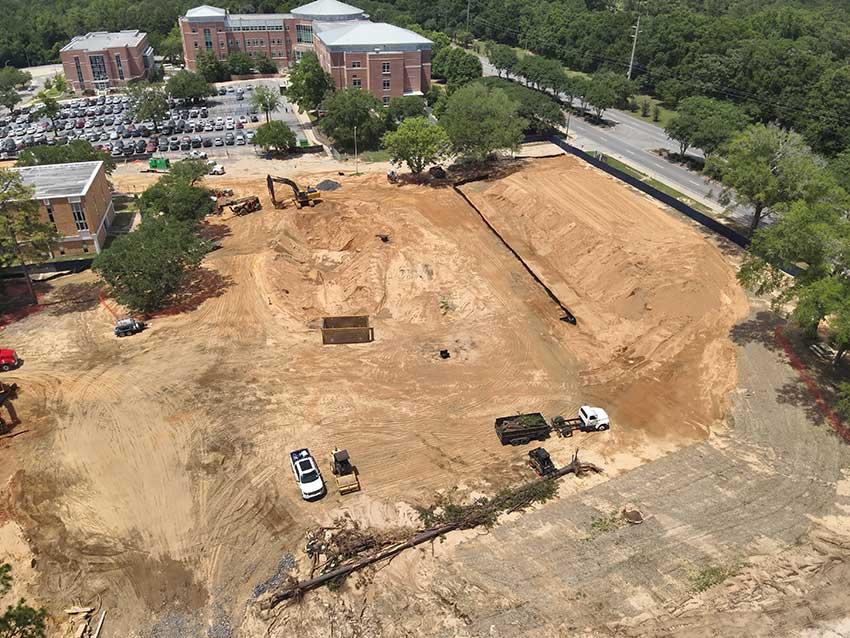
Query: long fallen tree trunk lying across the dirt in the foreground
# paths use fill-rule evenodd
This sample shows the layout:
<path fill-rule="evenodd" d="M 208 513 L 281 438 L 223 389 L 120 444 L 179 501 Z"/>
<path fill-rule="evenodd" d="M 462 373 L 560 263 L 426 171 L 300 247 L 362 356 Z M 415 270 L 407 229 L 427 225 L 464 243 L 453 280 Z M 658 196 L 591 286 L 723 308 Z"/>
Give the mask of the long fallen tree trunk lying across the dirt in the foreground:
<path fill-rule="evenodd" d="M 550 474 L 549 476 L 538 479 L 537 481 L 532 481 L 531 483 L 523 484 L 522 486 L 517 488 L 517 492 L 519 492 L 521 489 L 528 487 L 528 486 L 539 485 L 539 484 L 544 483 L 546 481 L 554 481 L 556 479 L 559 479 L 559 478 L 566 476 L 567 474 L 575 474 L 576 476 L 581 476 L 582 474 L 585 474 L 587 472 L 599 473 L 599 472 L 602 472 L 602 471 L 603 470 L 602 470 L 601 467 L 594 465 L 593 463 L 583 463 L 583 462 L 579 461 L 578 460 L 578 450 L 576 450 L 575 453 L 573 454 L 573 460 L 569 463 L 569 465 L 565 465 L 564 467 L 560 468 L 559 470 L 557 470 L 553 474 Z M 517 504 L 514 504 L 512 507 L 510 507 L 508 509 L 501 508 L 499 511 L 500 512 L 505 512 L 505 511 L 513 512 L 513 511 L 517 511 L 518 509 L 522 509 L 523 507 L 525 507 L 529 504 L 530 503 L 517 503 Z M 490 503 L 484 505 L 483 507 L 494 508 L 494 505 L 495 504 L 491 501 Z M 475 520 L 475 519 L 472 519 L 472 520 Z M 284 602 L 285 600 L 292 600 L 292 599 L 300 598 L 305 592 L 316 589 L 317 587 L 321 587 L 322 585 L 329 583 L 331 581 L 337 580 L 339 578 L 344 578 L 344 577 L 348 576 L 349 574 L 352 574 L 353 572 L 356 572 L 357 570 L 363 569 L 364 567 L 368 567 L 369 565 L 373 565 L 374 563 L 380 562 L 382 560 L 386 560 L 388 558 L 393 558 L 394 556 L 397 556 L 398 554 L 400 554 L 401 552 L 403 552 L 406 549 L 416 547 L 417 545 L 421 545 L 422 543 L 427 543 L 430 540 L 433 540 L 433 539 L 435 539 L 439 536 L 442 536 L 443 534 L 447 534 L 447 533 L 452 532 L 454 530 L 470 528 L 470 527 L 475 527 L 475 526 L 476 526 L 475 524 L 470 524 L 469 519 L 461 518 L 461 519 L 455 520 L 453 522 L 446 523 L 444 525 L 432 527 L 430 529 L 427 529 L 427 530 L 424 530 L 422 532 L 415 534 L 413 537 L 411 537 L 410 539 L 408 539 L 404 543 L 395 544 L 395 545 L 393 545 L 393 546 L 391 546 L 387 549 L 384 549 L 384 550 L 378 552 L 377 554 L 374 554 L 372 556 L 367 556 L 366 558 L 362 558 L 362 559 L 355 561 L 353 563 L 350 563 L 348 565 L 343 565 L 343 566 L 338 567 L 338 568 L 336 568 L 332 571 L 329 571 L 329 572 L 326 572 L 326 573 L 321 574 L 319 576 L 316 576 L 315 578 L 310 578 L 308 580 L 301 581 L 299 583 L 292 585 L 291 587 L 288 587 L 286 589 L 278 591 L 278 592 L 272 594 L 266 600 L 264 600 L 261 603 L 260 606 L 261 606 L 262 609 L 265 609 L 265 610 L 274 609 L 275 607 L 277 607 L 280 603 Z"/>

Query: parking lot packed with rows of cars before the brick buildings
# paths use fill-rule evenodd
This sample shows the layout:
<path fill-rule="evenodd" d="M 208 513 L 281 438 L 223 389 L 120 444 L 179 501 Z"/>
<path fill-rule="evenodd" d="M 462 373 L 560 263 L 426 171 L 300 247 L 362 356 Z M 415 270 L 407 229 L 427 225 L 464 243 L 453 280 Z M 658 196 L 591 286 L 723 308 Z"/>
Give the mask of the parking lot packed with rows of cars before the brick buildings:
<path fill-rule="evenodd" d="M 253 152 L 254 130 L 265 115 L 252 113 L 250 97 L 254 88 L 266 84 L 277 90 L 279 80 L 226 82 L 215 86 L 216 95 L 205 103 L 174 103 L 168 119 L 154 126 L 152 121 L 134 117 L 129 96 L 77 98 L 63 101 L 55 120 L 54 136 L 50 120 L 38 107 L 23 109 L 13 118 L 0 118 L 0 152 L 12 157 L 39 144 L 66 144 L 86 140 L 115 158 L 151 153 L 183 153 L 202 149 L 211 155 Z M 270 115 L 285 121 L 304 140 L 293 107 L 281 96 L 281 106 Z M 243 147 L 243 148 L 239 148 Z"/>

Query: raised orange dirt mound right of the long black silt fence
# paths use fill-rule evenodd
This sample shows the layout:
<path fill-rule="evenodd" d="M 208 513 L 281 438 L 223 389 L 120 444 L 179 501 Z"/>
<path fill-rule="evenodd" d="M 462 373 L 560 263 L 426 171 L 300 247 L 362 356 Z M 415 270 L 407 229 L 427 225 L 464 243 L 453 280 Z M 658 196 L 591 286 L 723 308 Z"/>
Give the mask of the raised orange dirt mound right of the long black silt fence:
<path fill-rule="evenodd" d="M 572 157 L 464 192 L 576 315 L 582 380 L 616 416 L 658 431 L 722 417 L 736 378 L 728 333 L 747 302 L 713 243 Z"/>

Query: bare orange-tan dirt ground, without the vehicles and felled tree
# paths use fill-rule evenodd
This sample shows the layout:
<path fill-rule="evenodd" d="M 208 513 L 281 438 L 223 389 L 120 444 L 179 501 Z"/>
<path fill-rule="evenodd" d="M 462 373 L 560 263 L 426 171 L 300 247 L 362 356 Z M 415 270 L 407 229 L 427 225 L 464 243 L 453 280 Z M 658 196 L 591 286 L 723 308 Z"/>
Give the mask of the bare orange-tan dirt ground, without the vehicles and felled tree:
<path fill-rule="evenodd" d="M 530 162 L 465 191 L 578 326 L 559 321 L 540 285 L 451 189 L 340 177 L 322 161 L 299 181 L 342 187 L 315 209 L 272 209 L 269 163 L 229 166 L 215 179 L 260 195 L 264 210 L 211 218 L 222 248 L 205 260 L 206 294 L 132 339 L 111 336 L 91 274 L 45 284 L 45 309 L 0 333 L 26 360 L 9 380 L 23 389 L 16 407 L 29 430 L 0 440 L 0 523 L 19 526 L 14 538 L 28 549 L 0 539 L 31 552 L 30 595 L 54 612 L 72 602 L 108 608 L 106 636 L 259 636 L 270 623 L 273 636 L 327 636 L 331 626 L 334 635 L 484 635 L 491 626 L 492 635 L 534 626 L 560 635 L 556 616 L 567 612 L 578 627 L 600 627 L 687 589 L 687 570 L 675 565 L 630 583 L 616 569 L 632 542 L 621 534 L 638 531 L 644 540 L 632 551 L 651 549 L 665 565 L 683 547 L 702 550 L 688 560 L 726 560 L 724 548 L 747 547 L 743 531 L 719 549 L 719 538 L 703 538 L 704 492 L 719 508 L 736 485 L 765 495 L 793 488 L 793 520 L 779 517 L 773 535 L 787 543 L 802 533 L 807 494 L 824 511 L 843 460 L 829 466 L 831 479 L 759 487 L 737 474 L 750 471 L 750 456 L 726 468 L 734 446 L 706 440 L 738 368 L 749 373 L 729 339 L 746 312 L 733 265 L 675 214 L 574 160 Z M 284 168 L 294 170 L 272 172 L 292 174 Z M 119 190 L 153 179 L 127 169 L 115 176 Z M 321 345 L 321 317 L 361 313 L 374 343 Z M 739 356 L 747 347 L 737 346 Z M 610 407 L 615 427 L 582 437 L 582 455 L 617 478 L 565 483 L 556 502 L 508 517 L 493 534 L 459 534 L 366 575 L 374 582 L 363 591 L 355 579 L 275 618 L 246 611 L 255 588 L 291 569 L 287 556 L 301 556 L 306 527 L 341 511 L 378 526 L 410 524 L 409 504 L 437 490 L 489 492 L 527 478 L 524 451 L 499 446 L 493 418 L 569 414 L 586 401 Z M 363 491 L 341 499 L 332 488 L 302 502 L 288 451 L 310 447 L 331 478 L 334 445 L 351 451 Z M 573 447 L 547 442 L 558 462 Z M 706 458 L 711 450 L 719 456 Z M 680 473 L 689 491 L 671 488 Z M 732 478 L 718 486 L 715 475 Z M 822 490 L 812 499 L 801 485 Z M 777 508 L 764 498 L 761 519 L 771 520 Z M 597 512 L 624 500 L 647 501 L 655 518 L 582 540 Z M 687 533 L 676 540 L 671 529 Z M 719 537 L 724 528 L 712 529 Z M 600 545 L 596 560 L 582 551 L 587 543 Z M 576 561 L 595 574 L 599 601 L 569 585 L 549 591 L 552 575 L 569 580 Z M 526 590 L 543 592 L 540 605 Z M 615 604 L 623 591 L 630 606 Z"/>

